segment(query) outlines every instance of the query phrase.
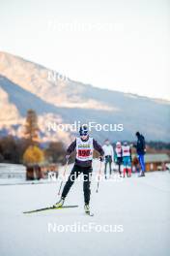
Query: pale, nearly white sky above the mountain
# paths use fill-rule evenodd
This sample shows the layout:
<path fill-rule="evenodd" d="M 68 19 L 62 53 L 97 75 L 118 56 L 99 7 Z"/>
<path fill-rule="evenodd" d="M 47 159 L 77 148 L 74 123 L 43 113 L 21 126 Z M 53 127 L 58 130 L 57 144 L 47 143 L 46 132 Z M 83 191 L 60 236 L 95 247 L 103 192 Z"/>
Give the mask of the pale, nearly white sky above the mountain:
<path fill-rule="evenodd" d="M 1 1 L 0 50 L 102 88 L 170 99 L 170 2 Z"/>

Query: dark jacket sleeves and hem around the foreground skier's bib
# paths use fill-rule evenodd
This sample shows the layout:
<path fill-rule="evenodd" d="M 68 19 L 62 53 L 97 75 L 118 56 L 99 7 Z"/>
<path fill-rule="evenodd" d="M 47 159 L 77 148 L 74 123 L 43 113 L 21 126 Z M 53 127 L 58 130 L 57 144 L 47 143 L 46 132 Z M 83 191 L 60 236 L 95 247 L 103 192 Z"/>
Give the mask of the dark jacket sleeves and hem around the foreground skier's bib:
<path fill-rule="evenodd" d="M 96 150 L 99 152 L 99 154 L 100 154 L 101 156 L 103 156 L 103 155 L 104 155 L 104 151 L 102 150 L 102 147 L 101 147 L 100 144 L 99 144 L 96 140 L 94 140 L 94 139 L 93 139 L 93 145 L 94 145 L 94 149 L 96 149 Z M 75 141 L 73 141 L 73 142 L 71 143 L 71 145 L 68 147 L 67 153 L 68 153 L 68 154 L 71 154 L 71 152 L 73 152 L 73 151 L 75 150 L 75 148 L 76 148 L 76 139 L 75 139 Z M 92 160 L 80 161 L 80 160 L 78 160 L 78 159 L 75 158 L 75 165 L 81 166 L 81 167 L 91 167 L 91 166 L 92 166 Z"/>

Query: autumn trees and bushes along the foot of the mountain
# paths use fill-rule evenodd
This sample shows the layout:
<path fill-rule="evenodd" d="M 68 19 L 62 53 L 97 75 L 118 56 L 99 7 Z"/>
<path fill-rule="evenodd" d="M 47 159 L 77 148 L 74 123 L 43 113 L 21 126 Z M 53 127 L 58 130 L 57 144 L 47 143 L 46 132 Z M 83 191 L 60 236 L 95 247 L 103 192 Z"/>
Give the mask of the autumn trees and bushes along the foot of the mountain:
<path fill-rule="evenodd" d="M 0 162 L 27 164 L 27 163 L 65 163 L 66 146 L 62 142 L 49 142 L 42 147 L 39 138 L 40 128 L 35 111 L 28 110 L 23 138 L 12 135 L 0 138 Z M 147 152 L 164 152 L 170 155 L 170 143 L 148 142 Z M 72 156 L 73 158 L 73 156 Z"/>

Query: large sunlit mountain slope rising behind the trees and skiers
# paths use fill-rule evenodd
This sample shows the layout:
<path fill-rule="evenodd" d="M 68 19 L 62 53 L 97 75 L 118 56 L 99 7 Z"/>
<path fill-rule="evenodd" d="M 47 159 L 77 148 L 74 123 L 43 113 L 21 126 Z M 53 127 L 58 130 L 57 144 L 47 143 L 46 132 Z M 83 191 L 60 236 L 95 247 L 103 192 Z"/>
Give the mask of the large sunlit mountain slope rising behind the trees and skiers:
<path fill-rule="evenodd" d="M 62 123 L 79 120 L 124 124 L 122 133 L 95 132 L 99 140 L 132 140 L 136 130 L 144 133 L 148 140 L 169 140 L 169 101 L 102 89 L 70 79 L 54 82 L 47 80 L 48 72 L 51 70 L 40 64 L 0 52 L 0 88 L 9 99 L 6 104 L 14 104 L 15 118 L 25 117 L 26 109 L 32 106 L 40 116 L 51 114 Z M 21 89 L 27 101 L 19 97 Z M 28 99 L 32 99 L 30 104 Z M 1 118 L 0 128 L 6 122 L 6 118 Z"/>

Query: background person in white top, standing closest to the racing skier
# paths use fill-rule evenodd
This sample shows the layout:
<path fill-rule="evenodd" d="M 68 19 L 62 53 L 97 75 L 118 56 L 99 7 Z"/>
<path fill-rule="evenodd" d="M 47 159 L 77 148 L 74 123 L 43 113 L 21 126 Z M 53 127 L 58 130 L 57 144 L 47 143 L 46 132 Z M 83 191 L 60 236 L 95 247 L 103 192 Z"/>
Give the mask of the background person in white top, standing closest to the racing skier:
<path fill-rule="evenodd" d="M 109 173 L 111 176 L 111 164 L 113 162 L 114 153 L 113 153 L 113 146 L 110 144 L 109 140 L 105 140 L 105 143 L 102 145 L 102 149 L 104 151 L 104 160 L 105 160 L 105 168 L 104 168 L 104 175 L 107 178 L 107 165 L 109 164 Z"/>

